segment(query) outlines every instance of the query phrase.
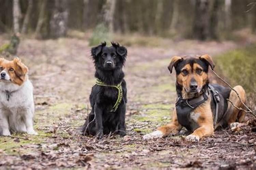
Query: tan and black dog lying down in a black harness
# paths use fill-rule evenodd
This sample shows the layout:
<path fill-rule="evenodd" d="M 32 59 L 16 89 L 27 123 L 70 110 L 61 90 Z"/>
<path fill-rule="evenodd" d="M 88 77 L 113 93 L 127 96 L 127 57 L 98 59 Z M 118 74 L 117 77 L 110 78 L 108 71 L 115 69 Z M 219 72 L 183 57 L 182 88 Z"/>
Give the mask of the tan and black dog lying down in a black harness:
<path fill-rule="evenodd" d="M 211 56 L 174 56 L 168 66 L 170 73 L 173 67 L 176 71 L 177 101 L 171 123 L 161 126 L 143 139 L 159 138 L 176 134 L 182 127 L 191 132 L 188 140 L 199 141 L 204 136 L 210 136 L 218 126 L 237 126 L 244 120 L 245 112 L 234 108 L 243 108 L 246 96 L 242 86 L 234 91 L 217 84 L 209 84 L 208 68 L 214 68 Z M 237 122 L 236 122 L 237 121 Z"/>

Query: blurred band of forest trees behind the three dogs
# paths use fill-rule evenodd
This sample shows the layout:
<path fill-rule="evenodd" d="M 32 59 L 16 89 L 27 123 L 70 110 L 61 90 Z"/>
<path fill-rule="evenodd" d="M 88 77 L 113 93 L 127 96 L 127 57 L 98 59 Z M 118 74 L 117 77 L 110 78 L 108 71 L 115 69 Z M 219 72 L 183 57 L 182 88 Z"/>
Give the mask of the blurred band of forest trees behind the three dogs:
<path fill-rule="evenodd" d="M 140 33 L 200 40 L 232 38 L 232 31 L 256 32 L 254 0 L 0 0 L 0 32 L 37 38 L 66 36 L 69 30 Z M 104 34 L 106 36 L 106 34 Z M 97 37 L 91 44 L 97 44 Z M 102 40 L 102 38 L 101 38 Z M 96 41 L 96 42 L 94 42 Z"/>

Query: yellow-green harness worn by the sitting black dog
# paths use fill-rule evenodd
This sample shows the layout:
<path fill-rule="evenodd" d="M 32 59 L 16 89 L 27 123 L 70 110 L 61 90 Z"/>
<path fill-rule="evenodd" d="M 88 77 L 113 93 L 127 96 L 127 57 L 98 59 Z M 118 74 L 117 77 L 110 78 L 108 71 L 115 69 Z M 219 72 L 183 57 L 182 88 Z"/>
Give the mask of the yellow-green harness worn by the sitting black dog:
<path fill-rule="evenodd" d="M 104 82 L 102 82 L 101 80 L 97 79 L 96 84 L 99 85 L 99 86 L 115 87 L 118 90 L 118 97 L 117 97 L 116 103 L 110 111 L 110 112 L 115 112 L 117 110 L 119 104 L 122 102 L 122 99 L 123 99 L 122 82 L 120 82 L 117 85 L 108 85 L 108 84 L 105 84 Z"/>

